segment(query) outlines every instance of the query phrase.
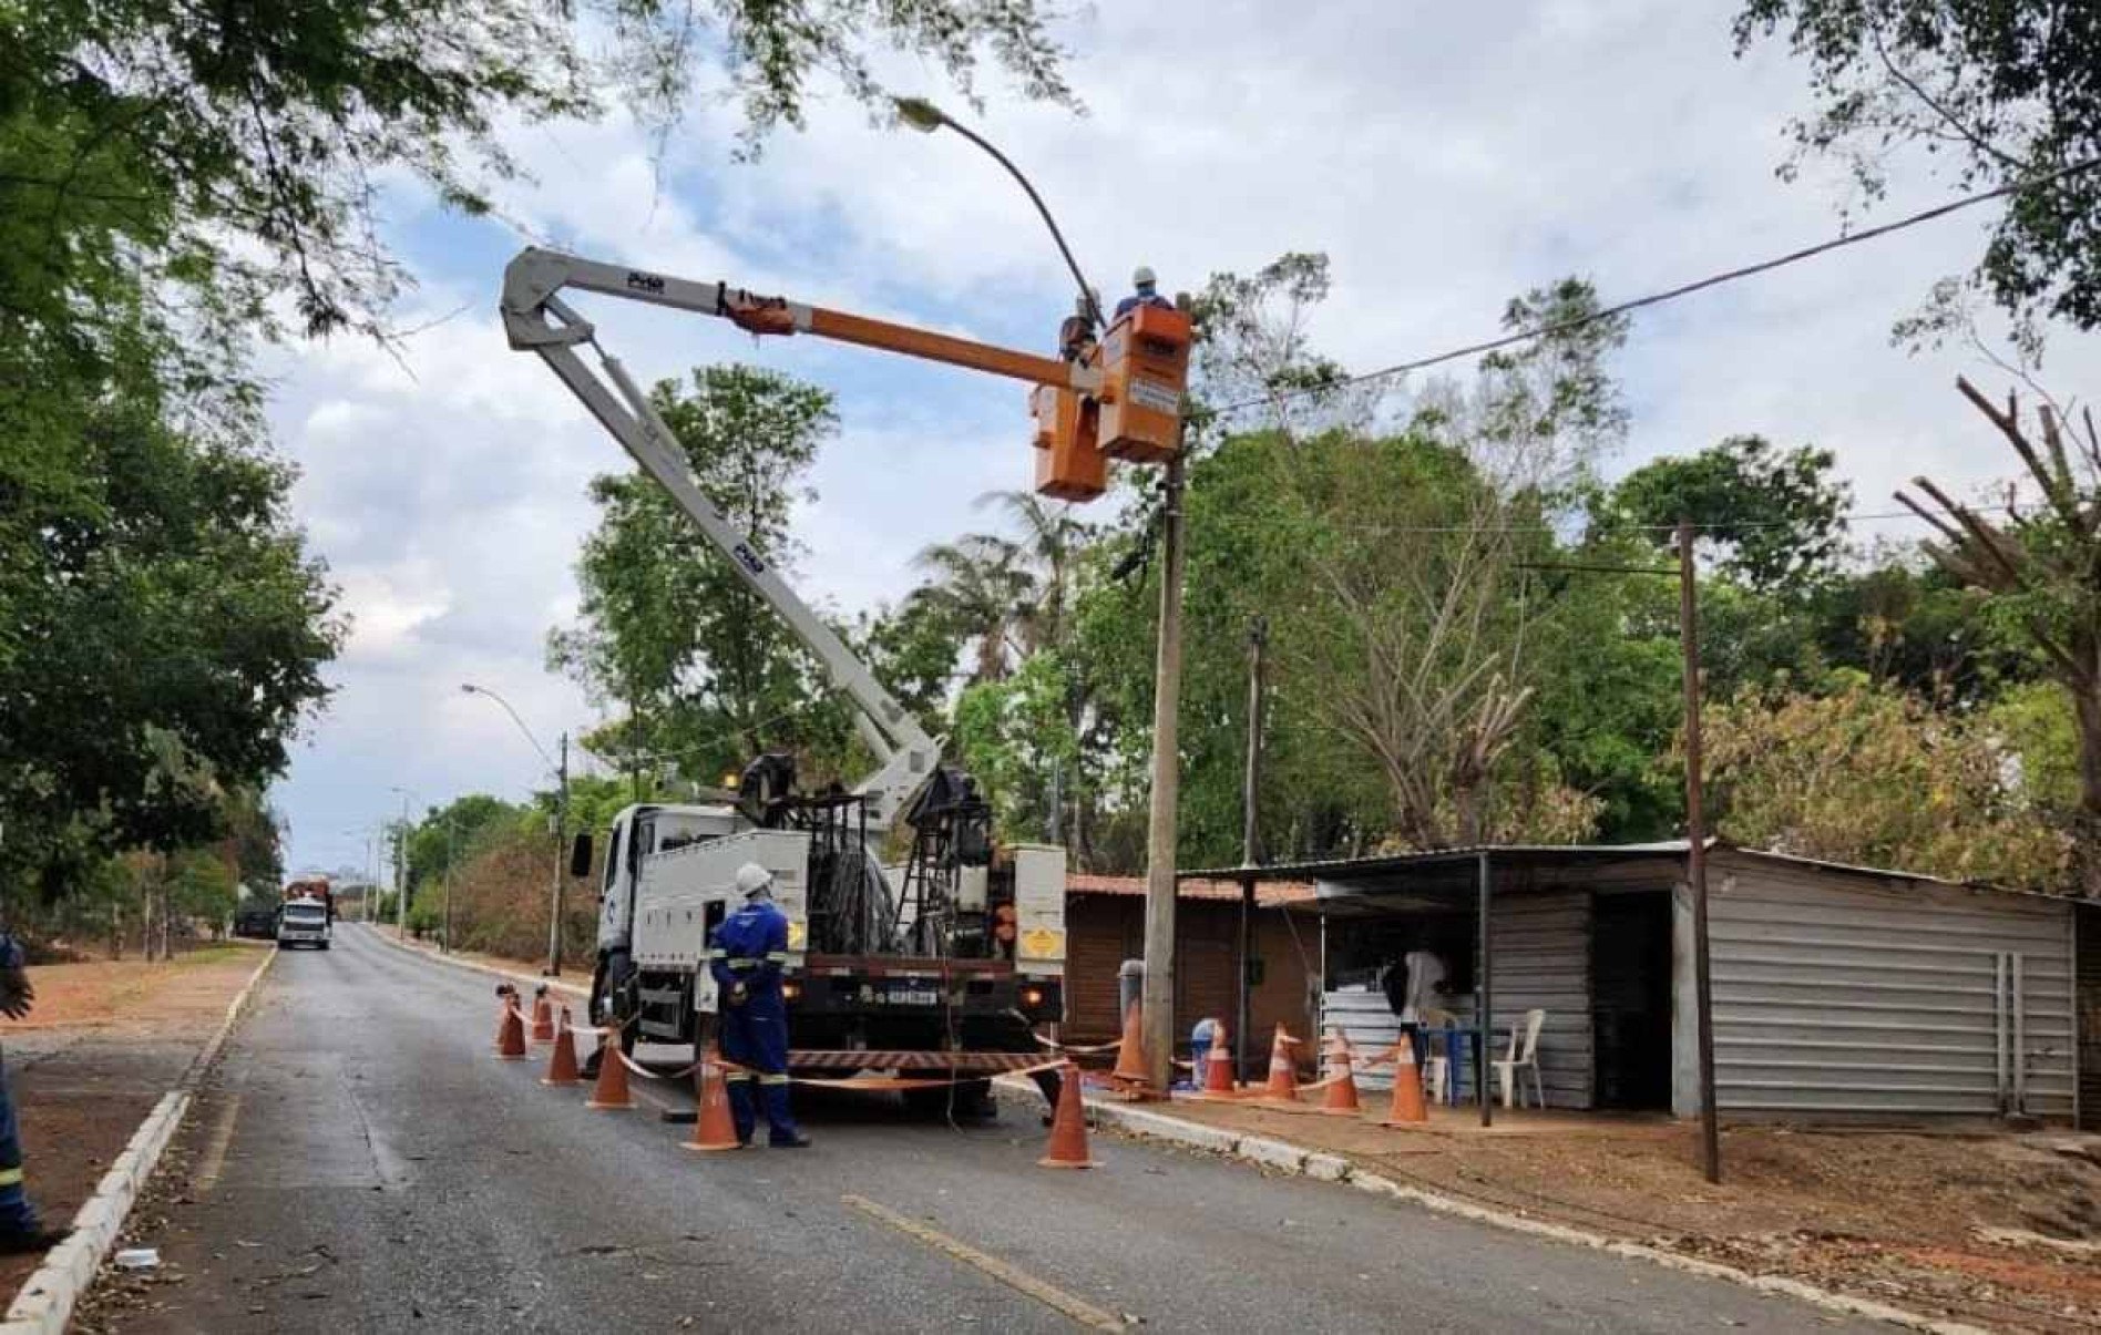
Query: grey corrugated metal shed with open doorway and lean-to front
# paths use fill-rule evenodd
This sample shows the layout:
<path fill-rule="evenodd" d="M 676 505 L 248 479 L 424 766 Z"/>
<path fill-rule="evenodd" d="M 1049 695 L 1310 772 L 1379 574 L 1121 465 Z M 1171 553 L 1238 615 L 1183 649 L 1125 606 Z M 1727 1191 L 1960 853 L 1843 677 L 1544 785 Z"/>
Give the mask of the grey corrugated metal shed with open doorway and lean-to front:
<path fill-rule="evenodd" d="M 1597 896 L 1670 890 L 1674 1018 L 1670 1039 L 1653 1045 L 1672 1073 L 1672 1108 L 1689 1115 L 1685 852 L 1683 842 L 1523 846 L 1265 871 L 1315 880 L 1324 930 L 1347 934 L 1364 919 L 1466 911 L 1485 854 L 1494 1020 L 1546 1010 L 1540 1052 L 1557 1106 L 1597 1098 Z M 1727 846 L 1712 848 L 1708 886 L 1723 1112 L 2095 1119 L 2101 907 Z M 1338 1016 L 1353 1014 L 1364 1045 L 1391 1039 L 1382 997 L 1330 999 Z"/>

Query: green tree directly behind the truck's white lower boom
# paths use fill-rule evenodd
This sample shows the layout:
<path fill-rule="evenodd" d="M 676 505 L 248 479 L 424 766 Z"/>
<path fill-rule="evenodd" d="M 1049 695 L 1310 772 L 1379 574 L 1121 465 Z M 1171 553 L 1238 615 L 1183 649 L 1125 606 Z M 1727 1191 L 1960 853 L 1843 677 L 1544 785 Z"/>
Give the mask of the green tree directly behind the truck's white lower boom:
<path fill-rule="evenodd" d="M 790 516 L 813 497 L 805 479 L 836 430 L 832 397 L 777 372 L 712 365 L 693 372 L 689 393 L 660 382 L 651 401 L 716 510 L 790 571 Z M 849 743 L 830 680 L 714 544 L 639 472 L 601 474 L 590 497 L 599 525 L 576 567 L 582 615 L 550 634 L 550 661 L 639 720 L 624 741 L 702 783 L 769 749 L 836 770 Z"/>

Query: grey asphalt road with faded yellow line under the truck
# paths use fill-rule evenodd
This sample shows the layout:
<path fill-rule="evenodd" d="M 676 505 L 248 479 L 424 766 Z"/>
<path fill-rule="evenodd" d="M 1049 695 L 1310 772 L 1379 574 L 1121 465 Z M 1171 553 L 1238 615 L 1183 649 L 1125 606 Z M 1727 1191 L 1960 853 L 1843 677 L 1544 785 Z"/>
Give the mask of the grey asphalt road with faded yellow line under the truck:
<path fill-rule="evenodd" d="M 162 1169 L 158 1234 L 137 1238 L 179 1283 L 149 1306 L 103 1293 L 90 1320 L 1072 1331 L 1093 1310 L 1235 1335 L 1870 1329 L 1107 1136 L 1101 1169 L 1040 1169 L 1034 1108 L 956 1131 L 889 1100 L 805 1098 L 815 1148 L 693 1154 L 649 1104 L 592 1112 L 542 1087 L 540 1060 L 494 1060 L 492 989 L 363 928 L 282 955 Z"/>

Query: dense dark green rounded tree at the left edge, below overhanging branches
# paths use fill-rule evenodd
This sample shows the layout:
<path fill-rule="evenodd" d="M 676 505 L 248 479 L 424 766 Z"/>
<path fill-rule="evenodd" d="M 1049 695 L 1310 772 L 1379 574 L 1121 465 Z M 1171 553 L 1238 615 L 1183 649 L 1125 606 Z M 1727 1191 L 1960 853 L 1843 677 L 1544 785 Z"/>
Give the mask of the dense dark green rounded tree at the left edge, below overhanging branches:
<path fill-rule="evenodd" d="M 290 470 L 164 414 L 101 403 L 63 481 L 0 474 L 0 859 L 53 892 L 99 852 L 221 838 L 342 634 Z"/>

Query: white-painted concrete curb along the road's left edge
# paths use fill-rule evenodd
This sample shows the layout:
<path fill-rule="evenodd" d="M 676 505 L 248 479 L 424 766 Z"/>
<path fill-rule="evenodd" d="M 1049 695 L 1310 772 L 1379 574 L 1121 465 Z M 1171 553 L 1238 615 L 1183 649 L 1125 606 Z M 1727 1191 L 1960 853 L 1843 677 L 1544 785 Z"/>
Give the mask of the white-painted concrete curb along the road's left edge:
<path fill-rule="evenodd" d="M 191 1058 L 189 1068 L 176 1081 L 174 1089 L 160 1096 L 153 1110 L 132 1131 L 130 1144 L 124 1146 L 124 1152 L 116 1157 L 109 1171 L 95 1186 L 95 1194 L 74 1215 L 74 1232 L 46 1251 L 44 1264 L 23 1280 L 21 1291 L 15 1293 L 15 1301 L 6 1310 L 6 1320 L 0 1322 L 0 1335 L 59 1335 L 65 1331 L 65 1325 L 74 1316 L 74 1304 L 95 1283 L 95 1274 L 116 1247 L 118 1234 L 124 1232 L 124 1220 L 130 1215 L 139 1190 L 153 1175 L 160 1157 L 168 1150 L 168 1142 L 183 1127 L 183 1117 L 189 1112 L 197 1083 L 212 1068 L 212 1062 L 219 1060 L 219 1052 L 227 1045 L 227 1035 L 233 1033 L 242 1012 L 248 1008 L 248 999 L 275 959 L 277 947 L 271 947 L 263 963 L 256 966 L 256 972 L 248 976 L 242 991 L 227 1003 L 227 1018 L 219 1022 L 219 1031 Z"/>

